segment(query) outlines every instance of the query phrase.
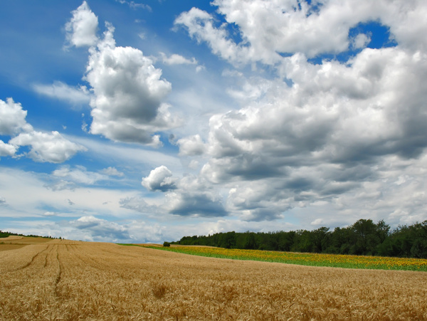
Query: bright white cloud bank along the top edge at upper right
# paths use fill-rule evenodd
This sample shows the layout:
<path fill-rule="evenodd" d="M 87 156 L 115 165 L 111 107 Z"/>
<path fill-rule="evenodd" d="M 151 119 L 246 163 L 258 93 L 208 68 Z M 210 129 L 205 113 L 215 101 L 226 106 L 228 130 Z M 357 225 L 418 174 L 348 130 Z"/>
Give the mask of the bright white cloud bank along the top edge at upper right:
<path fill-rule="evenodd" d="M 216 26 L 213 14 L 193 8 L 179 15 L 175 25 L 183 26 L 192 38 L 206 42 L 213 53 L 233 64 L 275 64 L 281 59 L 280 53 L 303 53 L 308 58 L 342 53 L 352 44 L 349 30 L 369 21 L 389 26 L 396 41 L 412 50 L 424 50 L 427 44 L 419 37 L 427 28 L 423 19 L 427 6 L 416 1 L 403 7 L 397 2 L 351 0 L 216 0 L 212 4 L 218 6 L 226 23 Z M 228 33 L 231 24 L 238 26 L 240 43 Z M 367 36 L 359 36 L 353 45 L 366 45 L 367 40 Z"/>

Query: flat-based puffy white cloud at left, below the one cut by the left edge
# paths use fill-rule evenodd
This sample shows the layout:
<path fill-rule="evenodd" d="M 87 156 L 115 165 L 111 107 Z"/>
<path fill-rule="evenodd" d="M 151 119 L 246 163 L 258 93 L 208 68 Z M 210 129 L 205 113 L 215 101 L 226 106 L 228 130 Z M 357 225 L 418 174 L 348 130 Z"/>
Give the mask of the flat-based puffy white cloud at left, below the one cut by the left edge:
<path fill-rule="evenodd" d="M 85 147 L 66 140 L 59 132 L 23 132 L 10 140 L 11 144 L 30 146 L 28 156 L 36 162 L 62 163 Z"/>

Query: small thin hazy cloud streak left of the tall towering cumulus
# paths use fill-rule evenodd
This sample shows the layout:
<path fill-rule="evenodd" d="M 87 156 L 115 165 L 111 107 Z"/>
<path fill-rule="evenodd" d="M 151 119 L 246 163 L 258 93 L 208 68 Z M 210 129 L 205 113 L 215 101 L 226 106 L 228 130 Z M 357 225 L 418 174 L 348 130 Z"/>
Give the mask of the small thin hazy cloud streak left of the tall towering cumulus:
<path fill-rule="evenodd" d="M 33 85 L 33 88 L 41 95 L 65 100 L 73 105 L 86 104 L 90 102 L 90 93 L 88 92 L 88 88 L 85 86 L 75 88 L 60 81 L 56 81 L 52 85 L 36 84 Z"/>

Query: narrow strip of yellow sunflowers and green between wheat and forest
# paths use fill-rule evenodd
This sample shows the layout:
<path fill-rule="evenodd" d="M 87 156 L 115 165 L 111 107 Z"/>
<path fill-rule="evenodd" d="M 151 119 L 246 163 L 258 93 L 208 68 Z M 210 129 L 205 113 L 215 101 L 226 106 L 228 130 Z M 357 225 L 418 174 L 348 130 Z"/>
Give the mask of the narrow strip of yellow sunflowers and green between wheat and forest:
<path fill-rule="evenodd" d="M 130 244 L 126 244 L 129 246 Z M 292 253 L 259 250 L 211 248 L 202 246 L 154 247 L 157 250 L 184 253 L 210 258 L 263 261 L 332 268 L 362 268 L 377 270 L 414 270 L 427 272 L 427 260 L 418 258 L 389 258 L 384 256 L 348 256 L 338 254 Z"/>

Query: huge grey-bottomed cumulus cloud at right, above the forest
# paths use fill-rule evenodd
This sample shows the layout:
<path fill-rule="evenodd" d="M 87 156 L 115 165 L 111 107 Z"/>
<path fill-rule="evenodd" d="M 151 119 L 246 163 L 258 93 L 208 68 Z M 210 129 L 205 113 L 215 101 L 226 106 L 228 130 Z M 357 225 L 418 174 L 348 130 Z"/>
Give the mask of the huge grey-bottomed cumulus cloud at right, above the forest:
<path fill-rule="evenodd" d="M 366 48 L 351 64 L 312 65 L 301 54 L 284 58 L 278 68 L 292 86 L 264 80 L 258 85 L 263 95 L 246 107 L 211 117 L 211 158 L 201 177 L 231 188 L 226 209 L 243 220 L 283 219 L 307 206 L 327 215 L 325 204 L 342 204 L 379 179 L 387 157 L 425 154 L 426 61 L 425 54 L 399 47 Z M 354 221 L 360 218 L 351 213 Z"/>

